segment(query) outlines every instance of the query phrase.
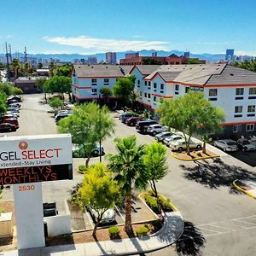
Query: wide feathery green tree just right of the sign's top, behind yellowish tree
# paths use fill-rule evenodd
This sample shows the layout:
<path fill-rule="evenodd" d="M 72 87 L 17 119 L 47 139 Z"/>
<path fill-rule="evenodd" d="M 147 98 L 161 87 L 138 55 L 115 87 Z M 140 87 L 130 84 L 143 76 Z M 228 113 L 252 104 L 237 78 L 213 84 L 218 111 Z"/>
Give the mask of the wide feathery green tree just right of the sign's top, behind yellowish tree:
<path fill-rule="evenodd" d="M 89 166 L 92 150 L 96 143 L 103 141 L 113 133 L 114 122 L 108 108 L 100 108 L 94 102 L 82 104 L 73 110 L 73 114 L 59 122 L 59 131 L 71 133 L 73 143 L 83 148 L 87 158 L 85 166 Z"/>

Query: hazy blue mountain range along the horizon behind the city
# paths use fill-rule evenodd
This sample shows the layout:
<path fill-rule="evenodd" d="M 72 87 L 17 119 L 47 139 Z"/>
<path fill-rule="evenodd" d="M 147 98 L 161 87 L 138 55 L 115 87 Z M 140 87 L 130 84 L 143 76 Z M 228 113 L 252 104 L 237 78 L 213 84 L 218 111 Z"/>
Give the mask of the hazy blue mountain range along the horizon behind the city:
<path fill-rule="evenodd" d="M 168 56 L 168 55 L 183 55 L 184 52 L 173 49 L 170 51 L 165 51 L 165 50 L 155 50 L 155 49 L 143 49 L 138 51 L 140 56 L 151 56 L 153 52 L 157 52 L 158 56 Z M 119 59 L 124 59 L 126 53 L 135 53 L 135 51 L 123 51 L 123 52 L 117 52 L 117 61 Z M 4 54 L 0 54 L 3 59 L 5 56 Z M 22 55 L 21 55 L 22 56 Z M 15 56 L 13 56 L 15 57 Z M 105 53 L 98 53 L 95 55 L 80 55 L 80 54 L 27 54 L 27 57 L 35 57 L 38 59 L 59 59 L 60 61 L 73 61 L 74 59 L 87 59 L 88 57 L 96 57 L 98 62 L 105 61 Z M 207 60 L 209 62 L 216 62 L 220 60 L 224 60 L 225 55 L 224 54 L 208 54 L 208 53 L 203 53 L 203 54 L 193 54 L 190 53 L 190 58 L 199 58 L 201 60 Z"/>

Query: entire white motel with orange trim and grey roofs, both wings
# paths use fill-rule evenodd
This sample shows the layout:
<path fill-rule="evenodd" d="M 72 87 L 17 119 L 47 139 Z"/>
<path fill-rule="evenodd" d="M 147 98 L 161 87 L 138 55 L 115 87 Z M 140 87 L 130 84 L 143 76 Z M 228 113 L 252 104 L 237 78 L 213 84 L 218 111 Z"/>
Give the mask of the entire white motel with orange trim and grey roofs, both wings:
<path fill-rule="evenodd" d="M 213 106 L 224 109 L 223 137 L 256 135 L 256 73 L 227 64 L 75 65 L 73 100 L 99 102 L 102 87 L 113 89 L 117 79 L 127 75 L 137 78 L 140 108 L 154 113 L 164 99 L 182 96 L 188 90 L 202 91 Z M 111 107 L 118 105 L 118 98 L 109 99 Z"/>

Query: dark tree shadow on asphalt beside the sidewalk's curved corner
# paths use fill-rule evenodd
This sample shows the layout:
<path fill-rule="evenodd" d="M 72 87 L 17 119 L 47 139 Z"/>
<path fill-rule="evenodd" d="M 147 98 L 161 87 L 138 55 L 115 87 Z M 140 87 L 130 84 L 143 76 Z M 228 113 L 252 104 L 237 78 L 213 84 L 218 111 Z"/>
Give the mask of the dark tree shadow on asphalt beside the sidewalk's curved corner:
<path fill-rule="evenodd" d="M 176 241 L 175 249 L 178 255 L 202 255 L 201 247 L 204 247 L 205 242 L 201 231 L 191 222 L 185 221 L 183 235 Z"/>

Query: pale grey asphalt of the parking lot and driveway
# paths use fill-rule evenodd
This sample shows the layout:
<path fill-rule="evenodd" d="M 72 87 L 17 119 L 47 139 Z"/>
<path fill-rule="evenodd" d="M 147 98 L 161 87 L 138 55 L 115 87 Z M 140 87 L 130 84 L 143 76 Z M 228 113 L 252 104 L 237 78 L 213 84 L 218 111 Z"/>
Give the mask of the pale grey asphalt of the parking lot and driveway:
<path fill-rule="evenodd" d="M 39 105 L 41 95 L 25 96 L 20 112 L 17 135 L 56 133 L 54 119 L 47 113 L 48 106 Z M 114 137 L 136 135 L 138 143 L 151 143 L 154 138 L 137 133 L 115 118 L 113 137 L 103 142 L 105 152 L 115 153 Z M 186 221 L 184 236 L 173 247 L 148 255 L 255 255 L 256 254 L 256 201 L 232 188 L 236 177 L 256 178 L 256 170 L 240 160 L 220 152 L 220 161 L 205 160 L 198 163 L 176 160 L 168 148 L 170 172 L 157 185 L 159 191 L 172 199 Z M 90 163 L 99 161 L 94 158 Z M 105 161 L 105 158 L 103 158 Z M 74 169 L 83 159 L 73 160 Z M 44 201 L 61 201 L 69 195 L 72 186 L 82 176 L 74 172 L 73 181 L 43 184 Z M 11 199 L 5 191 L 3 199 Z M 61 208 L 61 211 L 63 209 Z M 191 239 L 193 238 L 193 239 Z M 182 253 L 177 253 L 177 251 Z"/>

